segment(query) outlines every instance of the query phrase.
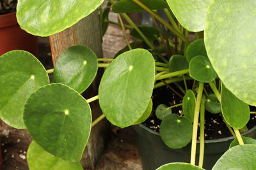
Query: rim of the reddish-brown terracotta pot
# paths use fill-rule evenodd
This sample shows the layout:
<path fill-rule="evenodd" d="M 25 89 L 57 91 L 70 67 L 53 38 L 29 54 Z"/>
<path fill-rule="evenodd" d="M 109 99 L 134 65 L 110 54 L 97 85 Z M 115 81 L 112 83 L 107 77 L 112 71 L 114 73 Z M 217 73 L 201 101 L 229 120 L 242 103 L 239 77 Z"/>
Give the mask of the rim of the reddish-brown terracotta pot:
<path fill-rule="evenodd" d="M 18 24 L 16 18 L 16 11 L 0 15 L 0 28 L 10 27 Z"/>

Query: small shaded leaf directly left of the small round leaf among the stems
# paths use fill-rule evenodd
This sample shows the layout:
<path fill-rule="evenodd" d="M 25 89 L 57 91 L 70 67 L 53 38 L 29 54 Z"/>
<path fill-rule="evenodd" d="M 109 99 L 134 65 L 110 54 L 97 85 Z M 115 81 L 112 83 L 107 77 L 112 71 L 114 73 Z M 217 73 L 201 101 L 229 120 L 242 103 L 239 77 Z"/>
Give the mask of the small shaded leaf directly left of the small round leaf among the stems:
<path fill-rule="evenodd" d="M 188 61 L 183 55 L 173 55 L 168 63 L 170 73 L 188 69 Z"/>

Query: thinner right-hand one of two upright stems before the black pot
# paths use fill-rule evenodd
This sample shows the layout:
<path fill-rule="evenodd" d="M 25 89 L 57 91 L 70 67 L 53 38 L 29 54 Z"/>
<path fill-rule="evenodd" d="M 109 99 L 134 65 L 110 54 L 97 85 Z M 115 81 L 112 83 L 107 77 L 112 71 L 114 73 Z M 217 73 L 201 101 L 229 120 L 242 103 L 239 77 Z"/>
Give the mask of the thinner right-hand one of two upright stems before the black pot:
<path fill-rule="evenodd" d="M 202 97 L 200 108 L 200 153 L 198 166 L 203 168 L 204 164 L 204 115 L 205 115 L 205 95 Z"/>

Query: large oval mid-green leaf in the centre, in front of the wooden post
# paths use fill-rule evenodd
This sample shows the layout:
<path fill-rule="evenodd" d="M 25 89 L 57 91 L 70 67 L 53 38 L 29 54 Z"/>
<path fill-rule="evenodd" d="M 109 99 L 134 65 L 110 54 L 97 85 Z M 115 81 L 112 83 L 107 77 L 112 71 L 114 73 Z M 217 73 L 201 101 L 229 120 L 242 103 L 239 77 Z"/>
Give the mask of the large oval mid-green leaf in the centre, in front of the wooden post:
<path fill-rule="evenodd" d="M 116 57 L 104 72 L 99 86 L 102 112 L 113 125 L 133 125 L 143 115 L 152 96 L 155 61 L 143 49 Z"/>

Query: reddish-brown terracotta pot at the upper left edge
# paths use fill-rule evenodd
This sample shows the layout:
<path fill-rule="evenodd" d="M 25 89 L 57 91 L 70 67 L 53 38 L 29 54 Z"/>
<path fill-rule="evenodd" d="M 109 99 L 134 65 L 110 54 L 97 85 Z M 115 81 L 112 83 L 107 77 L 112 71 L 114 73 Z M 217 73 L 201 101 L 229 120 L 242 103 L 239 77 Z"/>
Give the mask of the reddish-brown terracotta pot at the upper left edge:
<path fill-rule="evenodd" d="M 26 50 L 38 56 L 38 39 L 20 29 L 16 12 L 0 15 L 0 55 L 11 50 Z"/>

